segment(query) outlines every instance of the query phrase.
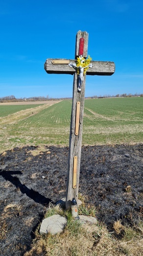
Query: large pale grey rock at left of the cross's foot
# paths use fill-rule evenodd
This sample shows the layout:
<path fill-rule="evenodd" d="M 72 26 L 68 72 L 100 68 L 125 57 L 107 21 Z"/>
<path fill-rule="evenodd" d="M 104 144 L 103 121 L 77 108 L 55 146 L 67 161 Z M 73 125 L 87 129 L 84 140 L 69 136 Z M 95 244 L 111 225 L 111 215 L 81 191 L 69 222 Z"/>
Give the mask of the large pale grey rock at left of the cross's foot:
<path fill-rule="evenodd" d="M 55 235 L 61 233 L 67 224 L 67 219 L 58 214 L 50 216 L 43 220 L 40 227 L 40 234 L 51 233 Z"/>

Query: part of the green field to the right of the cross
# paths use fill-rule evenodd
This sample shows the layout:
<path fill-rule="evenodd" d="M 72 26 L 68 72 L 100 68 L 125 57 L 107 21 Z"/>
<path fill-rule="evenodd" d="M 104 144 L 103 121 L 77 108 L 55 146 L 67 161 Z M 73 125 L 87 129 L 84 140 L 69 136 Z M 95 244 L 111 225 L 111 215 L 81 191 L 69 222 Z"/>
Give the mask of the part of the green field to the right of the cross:
<path fill-rule="evenodd" d="M 120 144 L 143 142 L 143 98 L 85 100 L 83 142 Z"/>

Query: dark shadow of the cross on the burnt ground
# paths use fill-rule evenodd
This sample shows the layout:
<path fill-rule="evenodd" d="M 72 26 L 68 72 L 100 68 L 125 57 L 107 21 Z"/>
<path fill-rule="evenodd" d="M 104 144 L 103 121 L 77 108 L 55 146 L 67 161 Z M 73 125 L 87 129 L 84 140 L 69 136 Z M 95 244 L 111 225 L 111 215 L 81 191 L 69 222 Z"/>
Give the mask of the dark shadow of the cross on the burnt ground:
<path fill-rule="evenodd" d="M 33 189 L 28 189 L 25 185 L 23 185 L 19 178 L 16 176 L 12 176 L 13 174 L 23 174 L 21 171 L 1 171 L 0 175 L 5 179 L 10 181 L 13 185 L 16 186 L 17 189 L 23 194 L 26 194 L 29 198 L 33 199 L 36 203 L 40 203 L 42 205 L 48 206 L 48 204 L 52 201 L 51 199 L 45 197 L 39 192 L 34 191 Z"/>

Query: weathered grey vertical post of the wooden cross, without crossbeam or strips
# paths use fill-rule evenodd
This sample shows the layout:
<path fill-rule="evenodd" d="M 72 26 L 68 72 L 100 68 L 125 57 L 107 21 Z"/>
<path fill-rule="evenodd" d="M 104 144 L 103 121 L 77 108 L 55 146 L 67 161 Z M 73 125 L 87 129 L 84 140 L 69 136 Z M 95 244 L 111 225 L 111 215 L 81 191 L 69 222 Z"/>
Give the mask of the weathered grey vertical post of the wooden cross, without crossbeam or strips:
<path fill-rule="evenodd" d="M 78 33 L 77 33 L 76 38 L 79 38 L 81 32 L 78 32 Z M 84 39 L 85 39 L 86 44 L 88 45 L 88 33 L 86 33 L 86 37 Z M 77 44 L 77 42 L 76 42 L 76 44 Z M 86 46 L 86 49 L 87 49 L 87 46 Z M 83 113 L 84 113 L 84 97 L 85 97 L 85 81 L 86 81 L 86 75 L 84 75 L 84 81 L 82 83 L 81 92 L 78 92 L 78 89 L 77 89 L 78 88 L 78 77 L 77 77 L 77 73 L 76 72 L 74 73 L 68 176 L 67 176 L 67 191 L 66 191 L 66 210 L 71 209 L 71 200 L 73 197 L 76 199 L 76 201 L 78 200 L 80 158 L 81 158 L 81 145 L 82 145 L 82 127 L 83 127 Z M 78 101 L 80 102 L 79 132 L 78 132 L 78 135 L 75 135 L 76 106 L 77 106 Z M 75 156 L 77 157 L 76 188 L 73 189 L 73 163 L 74 163 Z"/>

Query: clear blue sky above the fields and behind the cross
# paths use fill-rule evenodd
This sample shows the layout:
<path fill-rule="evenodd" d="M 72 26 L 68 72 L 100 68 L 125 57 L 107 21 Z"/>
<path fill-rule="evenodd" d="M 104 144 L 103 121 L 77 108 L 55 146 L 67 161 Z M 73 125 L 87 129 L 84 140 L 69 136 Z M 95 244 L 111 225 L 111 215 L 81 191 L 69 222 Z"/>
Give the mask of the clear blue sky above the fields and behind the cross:
<path fill-rule="evenodd" d="M 74 59 L 79 30 L 94 61 L 116 65 L 88 75 L 85 96 L 143 93 L 143 0 L 0 0 L 0 97 L 71 97 L 73 76 L 44 63 Z"/>

